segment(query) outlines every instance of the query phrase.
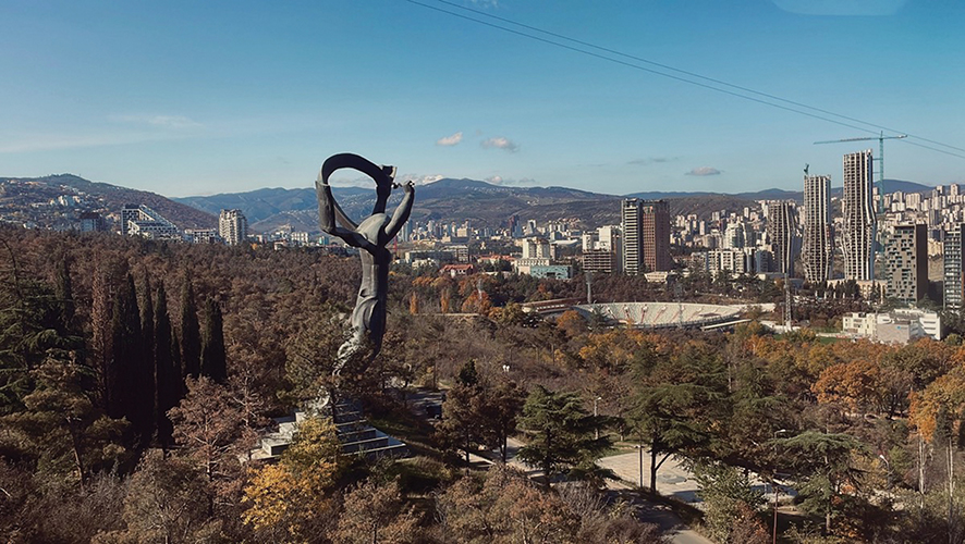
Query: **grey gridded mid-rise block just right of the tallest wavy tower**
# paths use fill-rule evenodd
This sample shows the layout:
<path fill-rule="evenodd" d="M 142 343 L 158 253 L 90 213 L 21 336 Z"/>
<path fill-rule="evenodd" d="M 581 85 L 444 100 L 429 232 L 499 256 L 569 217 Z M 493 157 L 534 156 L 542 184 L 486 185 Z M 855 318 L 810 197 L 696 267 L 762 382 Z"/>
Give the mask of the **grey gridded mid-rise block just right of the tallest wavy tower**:
<path fill-rule="evenodd" d="M 884 245 L 885 288 L 889 298 L 915 304 L 928 294 L 928 227 L 897 225 Z"/>

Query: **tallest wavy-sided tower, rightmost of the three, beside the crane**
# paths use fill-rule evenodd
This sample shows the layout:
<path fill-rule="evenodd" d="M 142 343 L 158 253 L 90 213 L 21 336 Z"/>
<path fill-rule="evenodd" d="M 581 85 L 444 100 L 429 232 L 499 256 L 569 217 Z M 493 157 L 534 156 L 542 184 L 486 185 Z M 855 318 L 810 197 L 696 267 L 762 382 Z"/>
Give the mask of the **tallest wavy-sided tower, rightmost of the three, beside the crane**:
<path fill-rule="evenodd" d="M 871 150 L 844 156 L 844 279 L 875 280 Z"/>

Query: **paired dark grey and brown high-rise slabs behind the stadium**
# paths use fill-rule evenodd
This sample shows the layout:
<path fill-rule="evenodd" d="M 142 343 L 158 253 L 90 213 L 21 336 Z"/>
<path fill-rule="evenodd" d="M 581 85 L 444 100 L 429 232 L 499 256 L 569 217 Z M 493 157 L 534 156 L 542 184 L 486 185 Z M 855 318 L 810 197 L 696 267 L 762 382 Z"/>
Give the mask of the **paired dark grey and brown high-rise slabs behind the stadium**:
<path fill-rule="evenodd" d="M 670 209 L 665 200 L 628 198 L 623 219 L 623 271 L 661 272 L 673 268 L 670 256 Z"/>

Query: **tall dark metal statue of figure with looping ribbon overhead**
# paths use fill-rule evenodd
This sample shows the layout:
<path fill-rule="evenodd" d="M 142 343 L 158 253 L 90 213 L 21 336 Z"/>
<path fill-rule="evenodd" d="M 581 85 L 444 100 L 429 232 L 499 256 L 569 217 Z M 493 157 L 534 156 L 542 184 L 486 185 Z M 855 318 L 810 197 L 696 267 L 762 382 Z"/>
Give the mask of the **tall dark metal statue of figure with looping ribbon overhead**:
<path fill-rule="evenodd" d="M 329 186 L 329 176 L 340 169 L 357 170 L 376 182 L 376 206 L 371 214 L 355 224 L 335 199 Z M 395 183 L 395 166 L 379 166 L 357 154 L 340 153 L 329 157 L 321 165 L 321 172 L 315 182 L 318 196 L 318 222 L 326 233 L 338 236 L 345 244 L 358 248 L 362 257 L 362 285 L 355 310 L 352 312 L 352 335 L 339 347 L 333 375 L 339 375 L 346 362 L 365 356 L 361 371 L 371 364 L 382 348 L 382 335 L 386 334 L 386 302 L 389 292 L 389 264 L 392 254 L 386 246 L 399 234 L 408 221 L 412 212 L 415 185 Z M 401 187 L 405 195 L 391 218 L 386 213 L 386 203 L 392 189 Z M 338 222 L 338 224 L 337 224 Z"/>

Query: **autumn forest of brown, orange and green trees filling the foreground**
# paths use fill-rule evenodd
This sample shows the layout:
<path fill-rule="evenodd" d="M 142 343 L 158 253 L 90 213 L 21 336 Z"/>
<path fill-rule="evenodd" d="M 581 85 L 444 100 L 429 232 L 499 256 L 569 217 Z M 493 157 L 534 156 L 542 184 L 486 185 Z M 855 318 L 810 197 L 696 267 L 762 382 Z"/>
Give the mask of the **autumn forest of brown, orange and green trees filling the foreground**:
<path fill-rule="evenodd" d="M 541 320 L 520 305 L 583 296 L 582 277 L 400 264 L 382 354 L 338 386 L 413 455 L 342 455 L 317 417 L 261 462 L 248 454 L 270 418 L 332 385 L 357 258 L 11 226 L 0 255 L 7 542 L 662 542 L 596 462 L 634 446 L 648 452 L 637 495 L 667 500 L 657 475 L 683 460 L 703 487 L 693 523 L 716 542 L 771 540 L 755 479 L 796 492 L 783 542 L 965 540 L 957 335 L 889 346 L 756 322 Z M 594 294 L 674 296 L 632 277 L 595 277 Z M 714 296 L 781 292 L 748 281 Z M 408 409 L 433 388 L 447 391 L 436 422 Z M 543 478 L 501 462 L 510 440 Z"/>

